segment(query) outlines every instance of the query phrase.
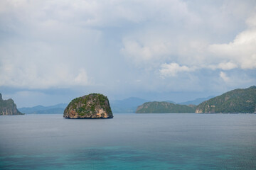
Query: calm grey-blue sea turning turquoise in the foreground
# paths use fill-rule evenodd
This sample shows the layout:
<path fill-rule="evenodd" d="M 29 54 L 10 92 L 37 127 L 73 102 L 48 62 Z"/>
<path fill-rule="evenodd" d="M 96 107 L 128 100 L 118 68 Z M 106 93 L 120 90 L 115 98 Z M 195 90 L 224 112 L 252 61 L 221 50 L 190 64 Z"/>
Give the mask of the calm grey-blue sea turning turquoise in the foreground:
<path fill-rule="evenodd" d="M 256 169 L 256 114 L 0 116 L 0 169 Z"/>

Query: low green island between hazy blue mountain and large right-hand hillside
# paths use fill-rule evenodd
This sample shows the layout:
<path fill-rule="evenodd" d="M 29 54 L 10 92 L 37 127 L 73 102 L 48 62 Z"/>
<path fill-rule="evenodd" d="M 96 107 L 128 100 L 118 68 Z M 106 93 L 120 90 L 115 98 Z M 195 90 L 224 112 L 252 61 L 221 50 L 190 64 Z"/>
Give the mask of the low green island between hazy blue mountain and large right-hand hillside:
<path fill-rule="evenodd" d="M 195 113 L 195 107 L 154 101 L 138 106 L 136 113 Z"/>

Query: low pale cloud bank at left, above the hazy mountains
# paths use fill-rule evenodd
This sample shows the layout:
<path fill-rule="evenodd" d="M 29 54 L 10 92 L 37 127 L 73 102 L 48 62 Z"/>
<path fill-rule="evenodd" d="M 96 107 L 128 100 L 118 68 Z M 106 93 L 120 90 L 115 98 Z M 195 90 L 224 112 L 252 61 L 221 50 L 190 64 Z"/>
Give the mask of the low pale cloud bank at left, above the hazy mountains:
<path fill-rule="evenodd" d="M 47 68 L 47 65 L 45 65 Z M 87 78 L 84 69 L 73 72 L 69 67 L 50 67 L 41 72 L 37 67 L 16 67 L 6 65 L 0 67 L 0 86 L 11 86 L 29 89 L 48 89 L 53 87 L 88 86 L 92 82 Z"/>

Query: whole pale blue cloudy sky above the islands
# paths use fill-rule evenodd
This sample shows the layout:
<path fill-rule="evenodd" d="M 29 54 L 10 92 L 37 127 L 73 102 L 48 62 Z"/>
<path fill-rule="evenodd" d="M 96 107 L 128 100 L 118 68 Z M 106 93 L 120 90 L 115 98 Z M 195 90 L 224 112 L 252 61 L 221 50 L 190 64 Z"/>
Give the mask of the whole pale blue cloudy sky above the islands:
<path fill-rule="evenodd" d="M 256 1 L 1 0 L 0 93 L 17 107 L 188 101 L 256 85 Z"/>

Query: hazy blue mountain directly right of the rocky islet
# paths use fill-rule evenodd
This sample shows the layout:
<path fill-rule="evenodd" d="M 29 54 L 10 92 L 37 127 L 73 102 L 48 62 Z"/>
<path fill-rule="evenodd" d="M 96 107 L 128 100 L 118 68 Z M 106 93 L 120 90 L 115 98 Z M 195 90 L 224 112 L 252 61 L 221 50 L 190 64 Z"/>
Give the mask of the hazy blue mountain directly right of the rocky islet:
<path fill-rule="evenodd" d="M 110 106 L 113 113 L 135 113 L 137 107 L 147 102 L 142 98 L 126 98 L 119 101 L 110 101 Z"/>

